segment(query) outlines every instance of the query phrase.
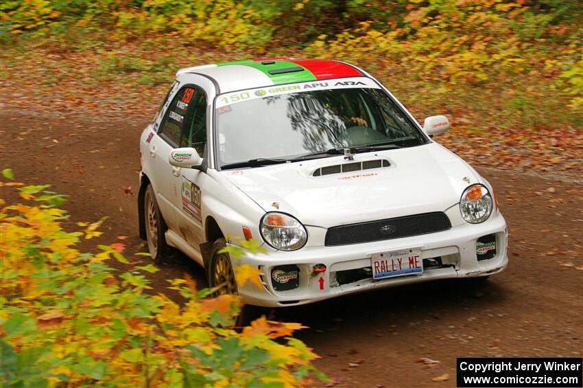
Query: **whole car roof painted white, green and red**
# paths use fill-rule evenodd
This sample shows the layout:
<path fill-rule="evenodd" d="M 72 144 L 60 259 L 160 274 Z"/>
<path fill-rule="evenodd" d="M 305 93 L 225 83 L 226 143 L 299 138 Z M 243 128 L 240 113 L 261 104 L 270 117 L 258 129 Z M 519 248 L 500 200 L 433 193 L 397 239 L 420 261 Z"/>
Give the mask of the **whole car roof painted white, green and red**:
<path fill-rule="evenodd" d="M 361 70 L 335 60 L 261 58 L 182 68 L 176 77 L 194 73 L 213 81 L 217 94 L 263 86 L 322 79 L 366 77 Z"/>

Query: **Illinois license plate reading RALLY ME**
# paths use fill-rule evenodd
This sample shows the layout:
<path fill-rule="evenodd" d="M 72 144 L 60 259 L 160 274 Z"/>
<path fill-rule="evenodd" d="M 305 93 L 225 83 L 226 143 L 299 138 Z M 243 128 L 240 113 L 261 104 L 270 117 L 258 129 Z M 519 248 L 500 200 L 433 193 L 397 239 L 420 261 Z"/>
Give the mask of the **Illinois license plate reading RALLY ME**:
<path fill-rule="evenodd" d="M 422 272 L 421 248 L 407 248 L 372 255 L 372 279 L 374 280 Z"/>

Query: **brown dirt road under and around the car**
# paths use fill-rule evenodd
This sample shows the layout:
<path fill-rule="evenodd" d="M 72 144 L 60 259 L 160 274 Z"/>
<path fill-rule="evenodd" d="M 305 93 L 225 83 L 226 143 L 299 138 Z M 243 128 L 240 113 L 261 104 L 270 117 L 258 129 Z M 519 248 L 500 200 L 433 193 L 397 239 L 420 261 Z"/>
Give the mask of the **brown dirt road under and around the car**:
<path fill-rule="evenodd" d="M 128 257 L 145 250 L 136 229 L 138 138 L 145 120 L 81 120 L 3 109 L 1 168 L 29 184 L 70 194 L 72 220 L 109 219 L 109 244 L 129 236 Z M 298 337 L 337 387 L 455 387 L 456 357 L 581 357 L 583 191 L 578 177 L 480 168 L 497 189 L 510 230 L 510 266 L 483 285 L 455 281 L 387 289 L 277 310 L 301 322 Z M 578 180 L 579 179 L 579 180 Z M 152 275 L 154 288 L 202 270 L 178 257 Z M 432 367 L 420 357 L 440 361 Z M 446 374 L 449 378 L 446 378 Z M 442 376 L 445 381 L 434 382 Z"/>

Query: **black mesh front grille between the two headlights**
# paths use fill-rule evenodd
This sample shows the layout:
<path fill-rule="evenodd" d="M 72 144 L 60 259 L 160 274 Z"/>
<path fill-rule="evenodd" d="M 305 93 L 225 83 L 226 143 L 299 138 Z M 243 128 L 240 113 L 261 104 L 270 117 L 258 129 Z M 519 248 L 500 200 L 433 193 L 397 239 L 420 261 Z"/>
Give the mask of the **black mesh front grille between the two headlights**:
<path fill-rule="evenodd" d="M 326 246 L 359 244 L 391 240 L 394 238 L 424 235 L 451 228 L 449 218 L 441 211 L 434 213 L 416 214 L 387 220 L 361 222 L 359 224 L 332 227 L 326 232 Z"/>

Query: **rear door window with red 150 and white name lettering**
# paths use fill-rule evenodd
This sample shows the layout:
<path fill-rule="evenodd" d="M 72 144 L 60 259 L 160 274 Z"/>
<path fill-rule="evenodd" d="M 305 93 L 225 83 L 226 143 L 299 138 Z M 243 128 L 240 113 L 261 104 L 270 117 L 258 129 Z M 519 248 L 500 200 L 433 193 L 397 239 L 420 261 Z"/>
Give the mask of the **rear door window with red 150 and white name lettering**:
<path fill-rule="evenodd" d="M 192 86 L 182 88 L 178 90 L 178 93 L 176 93 L 176 96 L 168 106 L 159 133 L 173 146 L 180 144 L 182 131 L 187 127 L 185 123 L 188 121 L 187 114 L 192 112 L 192 109 L 189 109 L 189 105 L 193 101 L 194 94 L 195 90 Z"/>

